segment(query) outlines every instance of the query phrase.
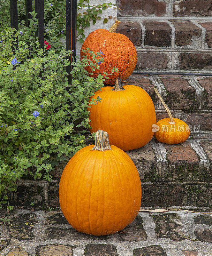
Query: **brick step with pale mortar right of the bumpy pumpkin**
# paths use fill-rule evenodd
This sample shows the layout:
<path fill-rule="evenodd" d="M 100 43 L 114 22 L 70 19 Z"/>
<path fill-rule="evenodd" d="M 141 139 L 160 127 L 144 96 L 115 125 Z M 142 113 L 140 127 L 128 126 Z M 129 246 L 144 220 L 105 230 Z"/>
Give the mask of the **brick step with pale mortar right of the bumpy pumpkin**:
<path fill-rule="evenodd" d="M 136 1 L 135 1 L 136 2 Z M 132 19 L 133 18 L 133 19 Z M 211 73 L 212 22 L 118 17 L 117 32 L 126 35 L 137 50 L 137 70 L 202 70 Z M 133 21 L 132 21 L 133 20 Z"/>

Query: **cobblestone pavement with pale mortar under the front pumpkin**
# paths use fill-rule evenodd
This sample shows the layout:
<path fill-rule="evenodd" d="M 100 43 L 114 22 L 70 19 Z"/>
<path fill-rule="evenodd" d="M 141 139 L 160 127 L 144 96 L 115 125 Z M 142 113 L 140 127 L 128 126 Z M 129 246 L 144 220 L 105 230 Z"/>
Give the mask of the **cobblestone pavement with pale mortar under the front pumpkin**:
<path fill-rule="evenodd" d="M 15 210 L 0 216 L 0 256 L 211 256 L 212 212 L 140 212 L 110 236 L 77 232 L 61 211 Z"/>

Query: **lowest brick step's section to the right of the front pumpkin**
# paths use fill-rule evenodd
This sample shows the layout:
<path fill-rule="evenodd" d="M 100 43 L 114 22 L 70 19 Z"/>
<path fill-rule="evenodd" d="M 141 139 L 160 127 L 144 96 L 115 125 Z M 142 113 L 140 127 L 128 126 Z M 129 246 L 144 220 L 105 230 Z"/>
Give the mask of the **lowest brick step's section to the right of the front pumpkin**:
<path fill-rule="evenodd" d="M 212 208 L 212 141 L 208 135 L 201 136 L 178 145 L 153 138 L 144 147 L 127 152 L 140 175 L 141 207 Z"/>

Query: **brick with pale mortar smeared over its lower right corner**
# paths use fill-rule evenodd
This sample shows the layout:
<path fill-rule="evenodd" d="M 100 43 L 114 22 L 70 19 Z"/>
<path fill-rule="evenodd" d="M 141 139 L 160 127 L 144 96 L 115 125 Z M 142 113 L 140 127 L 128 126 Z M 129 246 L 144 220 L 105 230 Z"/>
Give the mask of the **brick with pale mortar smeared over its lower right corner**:
<path fill-rule="evenodd" d="M 201 36 L 201 28 L 192 22 L 173 22 L 175 27 L 175 44 L 178 46 L 190 45 L 192 36 Z"/>

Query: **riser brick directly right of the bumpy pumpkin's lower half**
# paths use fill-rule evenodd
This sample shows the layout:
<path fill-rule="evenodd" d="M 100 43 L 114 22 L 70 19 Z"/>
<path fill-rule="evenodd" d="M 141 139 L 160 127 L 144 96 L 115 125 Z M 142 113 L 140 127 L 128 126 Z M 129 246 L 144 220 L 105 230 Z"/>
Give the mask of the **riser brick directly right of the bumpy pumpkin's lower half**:
<path fill-rule="evenodd" d="M 168 58 L 165 53 L 137 52 L 137 68 L 167 68 Z"/>

